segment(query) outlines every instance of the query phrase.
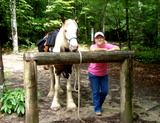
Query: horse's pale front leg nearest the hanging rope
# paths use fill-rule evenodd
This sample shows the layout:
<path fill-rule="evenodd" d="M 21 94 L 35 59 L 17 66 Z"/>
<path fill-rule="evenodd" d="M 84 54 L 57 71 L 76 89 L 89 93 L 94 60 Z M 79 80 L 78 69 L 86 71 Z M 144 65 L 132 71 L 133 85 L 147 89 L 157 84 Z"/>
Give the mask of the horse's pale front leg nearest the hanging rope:
<path fill-rule="evenodd" d="M 76 104 L 73 101 L 72 97 L 72 87 L 71 87 L 71 74 L 69 75 L 69 78 L 67 79 L 67 109 L 68 110 L 75 110 Z"/>

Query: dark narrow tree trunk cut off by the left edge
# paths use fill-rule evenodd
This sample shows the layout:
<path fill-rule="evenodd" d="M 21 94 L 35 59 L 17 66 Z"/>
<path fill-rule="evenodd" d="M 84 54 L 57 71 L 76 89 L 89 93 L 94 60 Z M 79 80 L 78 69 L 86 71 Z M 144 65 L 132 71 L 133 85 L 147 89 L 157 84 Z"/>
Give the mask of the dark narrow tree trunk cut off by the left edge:
<path fill-rule="evenodd" d="M 4 83 L 3 59 L 2 59 L 2 45 L 0 44 L 0 85 Z"/>

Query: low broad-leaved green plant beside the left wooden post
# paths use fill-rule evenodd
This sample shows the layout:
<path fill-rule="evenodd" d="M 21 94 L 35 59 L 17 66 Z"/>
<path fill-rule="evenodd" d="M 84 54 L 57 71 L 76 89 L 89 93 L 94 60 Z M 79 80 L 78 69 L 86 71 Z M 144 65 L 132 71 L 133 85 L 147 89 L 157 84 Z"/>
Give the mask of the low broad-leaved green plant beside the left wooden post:
<path fill-rule="evenodd" d="M 16 88 L 3 92 L 1 95 L 1 111 L 7 114 L 17 113 L 23 116 L 25 113 L 24 89 Z"/>

